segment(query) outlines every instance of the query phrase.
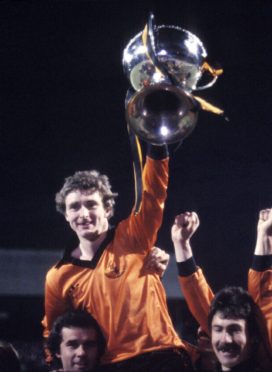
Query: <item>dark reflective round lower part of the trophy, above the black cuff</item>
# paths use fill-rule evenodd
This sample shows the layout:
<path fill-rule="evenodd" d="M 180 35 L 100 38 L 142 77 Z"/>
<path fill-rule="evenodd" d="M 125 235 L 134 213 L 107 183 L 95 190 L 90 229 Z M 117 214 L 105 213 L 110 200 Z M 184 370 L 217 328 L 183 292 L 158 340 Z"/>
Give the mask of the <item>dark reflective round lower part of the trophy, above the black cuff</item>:
<path fill-rule="evenodd" d="M 141 139 L 154 145 L 179 142 L 194 129 L 198 106 L 190 94 L 174 85 L 150 85 L 127 103 L 127 122 Z"/>

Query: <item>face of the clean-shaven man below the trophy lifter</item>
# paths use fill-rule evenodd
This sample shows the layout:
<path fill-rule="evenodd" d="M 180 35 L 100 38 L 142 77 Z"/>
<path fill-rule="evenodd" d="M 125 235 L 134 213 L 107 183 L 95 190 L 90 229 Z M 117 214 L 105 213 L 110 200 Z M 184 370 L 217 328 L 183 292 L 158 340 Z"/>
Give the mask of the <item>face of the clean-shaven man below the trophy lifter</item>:
<path fill-rule="evenodd" d="M 89 372 L 97 364 L 97 334 L 93 328 L 63 327 L 57 357 L 64 372 Z"/>

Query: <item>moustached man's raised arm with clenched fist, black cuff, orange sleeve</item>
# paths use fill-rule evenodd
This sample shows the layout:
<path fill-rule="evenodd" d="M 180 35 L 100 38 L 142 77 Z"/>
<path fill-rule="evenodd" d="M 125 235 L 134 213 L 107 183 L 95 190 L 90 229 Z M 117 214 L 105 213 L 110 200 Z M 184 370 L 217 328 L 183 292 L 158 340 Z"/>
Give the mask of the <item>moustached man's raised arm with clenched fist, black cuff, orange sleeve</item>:
<path fill-rule="evenodd" d="M 203 273 L 195 264 L 191 247 L 191 237 L 199 226 L 195 212 L 185 212 L 175 218 L 171 229 L 172 242 L 179 272 L 179 283 L 188 307 L 202 327 L 208 333 L 208 313 L 213 299 Z"/>

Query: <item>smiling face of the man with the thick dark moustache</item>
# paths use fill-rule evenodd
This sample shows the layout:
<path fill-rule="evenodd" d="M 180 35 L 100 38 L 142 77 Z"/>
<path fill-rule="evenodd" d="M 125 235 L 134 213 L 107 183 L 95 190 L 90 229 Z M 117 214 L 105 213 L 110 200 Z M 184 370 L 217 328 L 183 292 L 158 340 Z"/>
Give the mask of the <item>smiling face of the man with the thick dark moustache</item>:
<path fill-rule="evenodd" d="M 248 359 L 251 352 L 245 319 L 224 319 L 220 312 L 212 319 L 211 341 L 223 371 Z"/>

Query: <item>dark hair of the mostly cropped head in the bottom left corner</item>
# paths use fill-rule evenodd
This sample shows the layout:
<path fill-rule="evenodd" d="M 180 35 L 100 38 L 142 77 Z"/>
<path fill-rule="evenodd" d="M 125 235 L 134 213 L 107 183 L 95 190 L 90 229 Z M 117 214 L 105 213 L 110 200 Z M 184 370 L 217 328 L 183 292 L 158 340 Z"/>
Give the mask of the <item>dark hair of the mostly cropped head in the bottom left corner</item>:
<path fill-rule="evenodd" d="M 0 371 L 1 372 L 20 372 L 20 360 L 14 347 L 6 342 L 0 341 Z"/>

